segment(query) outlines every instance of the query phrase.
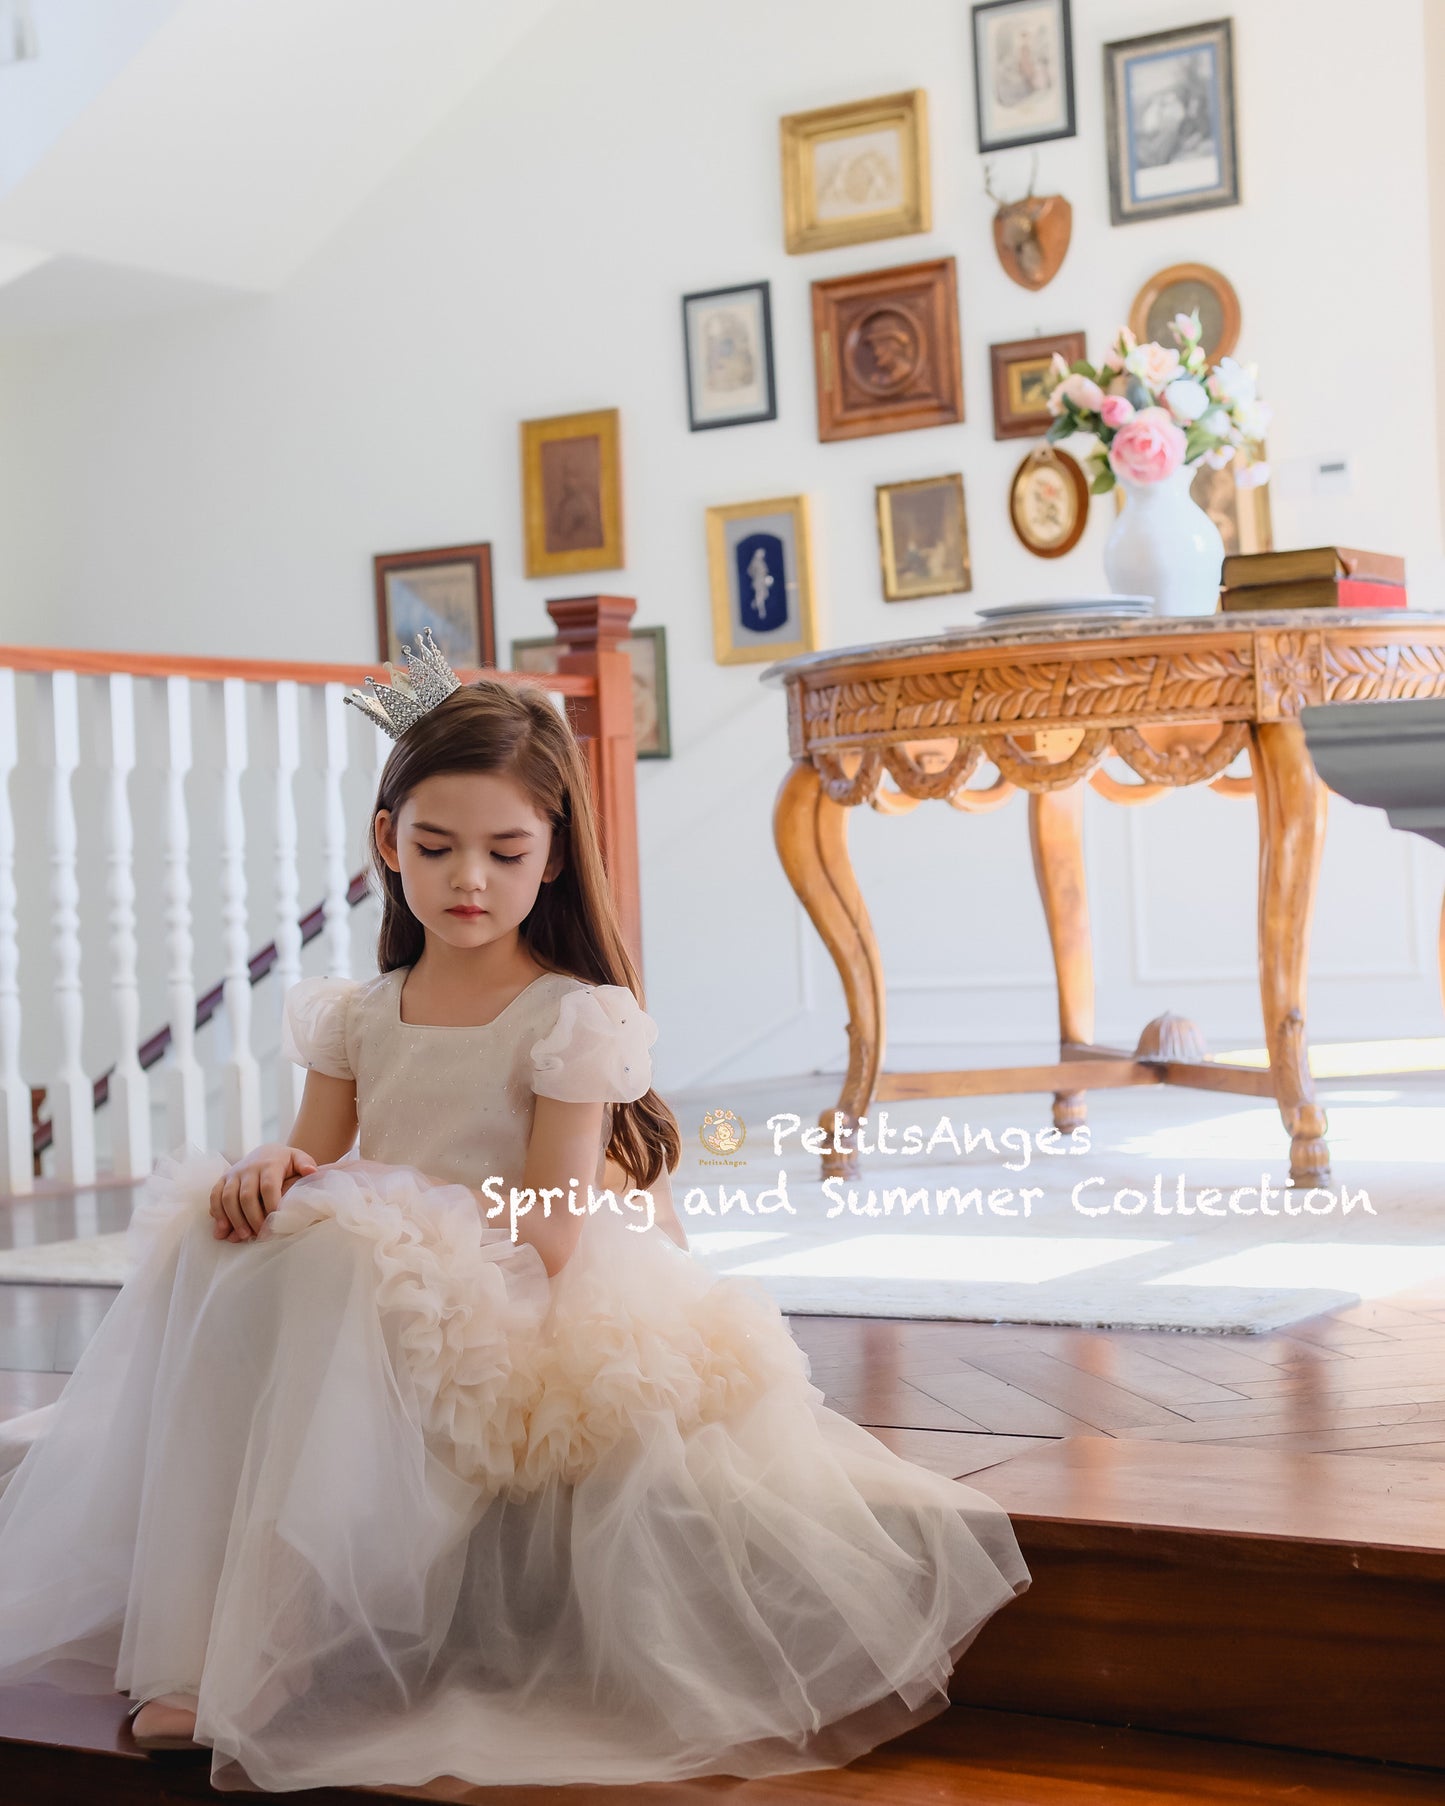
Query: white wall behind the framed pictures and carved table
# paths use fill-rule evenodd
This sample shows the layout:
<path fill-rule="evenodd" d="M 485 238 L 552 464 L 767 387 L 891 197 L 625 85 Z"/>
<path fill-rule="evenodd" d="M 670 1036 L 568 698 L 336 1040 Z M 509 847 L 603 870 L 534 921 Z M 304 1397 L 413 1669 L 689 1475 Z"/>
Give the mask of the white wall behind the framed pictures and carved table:
<path fill-rule="evenodd" d="M 1111 229 L 1100 45 L 1194 0 L 1075 5 L 1078 137 L 1040 148 L 1073 249 L 1033 296 L 999 269 L 974 150 L 961 0 L 562 0 L 276 296 L 13 343 L 0 363 L 0 638 L 219 654 L 374 654 L 370 556 L 493 542 L 499 638 L 601 589 L 668 630 L 670 764 L 639 768 L 648 1002 L 670 1084 L 836 1067 L 842 993 L 771 847 L 782 699 L 710 650 L 703 509 L 807 491 L 825 645 L 903 638 L 972 603 L 1104 587 L 1095 506 L 1057 563 L 1013 540 L 1026 450 L 995 444 L 988 345 L 1084 327 L 1100 347 L 1152 271 L 1219 265 L 1277 412 L 1277 466 L 1346 452 L 1355 493 L 1279 495 L 1281 544 L 1403 551 L 1441 607 L 1422 0 L 1235 0 L 1245 204 Z M 338 54 L 343 47 L 338 45 Z M 789 258 L 777 117 L 927 87 L 927 237 Z M 999 159 L 1022 191 L 1030 152 Z M 809 282 L 956 255 L 966 424 L 818 444 Z M 773 284 L 780 419 L 690 435 L 679 296 Z M 629 567 L 522 576 L 517 423 L 623 410 Z M 1409 410 L 1409 414 L 1405 412 Z M 876 482 L 963 470 L 975 591 L 885 605 Z M 1089 798 L 1100 1033 L 1160 1010 L 1214 1047 L 1257 1037 L 1250 804 Z M 853 818 L 890 979 L 890 1064 L 1044 1040 L 1053 993 L 1022 802 L 988 818 Z M 1438 1033 L 1445 858 L 1335 805 L 1315 937 L 1317 1038 Z M 262 936 L 264 937 L 264 936 Z M 956 1049 L 954 1055 L 948 1049 Z"/>

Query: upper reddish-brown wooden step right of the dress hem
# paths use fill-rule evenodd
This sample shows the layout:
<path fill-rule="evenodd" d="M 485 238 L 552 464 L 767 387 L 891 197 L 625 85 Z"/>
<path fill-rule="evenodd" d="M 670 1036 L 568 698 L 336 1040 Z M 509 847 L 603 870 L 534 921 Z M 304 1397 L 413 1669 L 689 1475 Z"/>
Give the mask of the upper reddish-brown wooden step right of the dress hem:
<path fill-rule="evenodd" d="M 1434 1463 L 1078 1436 L 968 1485 L 1033 1586 L 957 1701 L 1445 1768 Z"/>

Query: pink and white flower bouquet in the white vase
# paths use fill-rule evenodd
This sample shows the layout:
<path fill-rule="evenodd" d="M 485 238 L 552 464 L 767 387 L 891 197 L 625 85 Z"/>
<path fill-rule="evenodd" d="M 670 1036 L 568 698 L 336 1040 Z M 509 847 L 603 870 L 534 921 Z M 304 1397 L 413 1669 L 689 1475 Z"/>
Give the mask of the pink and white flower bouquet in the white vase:
<path fill-rule="evenodd" d="M 1093 493 L 1118 479 L 1160 482 L 1199 459 L 1214 470 L 1237 459 L 1241 489 L 1268 482 L 1261 441 L 1270 410 L 1255 394 L 1255 368 L 1221 358 L 1205 374 L 1199 314 L 1176 314 L 1176 345 L 1140 345 L 1123 327 L 1095 368 L 1086 358 L 1066 365 L 1055 352 L 1049 376 L 1051 442 L 1093 433 Z"/>

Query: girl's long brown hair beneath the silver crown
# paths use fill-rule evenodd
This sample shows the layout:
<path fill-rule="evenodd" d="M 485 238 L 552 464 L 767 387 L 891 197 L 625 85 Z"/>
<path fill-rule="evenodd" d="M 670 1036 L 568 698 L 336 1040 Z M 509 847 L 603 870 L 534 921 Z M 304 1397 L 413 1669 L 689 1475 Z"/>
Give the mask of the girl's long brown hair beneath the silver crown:
<path fill-rule="evenodd" d="M 544 820 L 562 870 L 536 892 L 520 936 L 538 964 L 585 984 L 625 984 L 647 1008 L 638 972 L 623 945 L 618 910 L 601 860 L 592 782 L 573 730 L 535 683 L 511 684 L 479 677 L 453 690 L 401 735 L 381 771 L 370 827 L 372 867 L 381 885 L 381 972 L 414 966 L 426 930 L 412 914 L 401 874 L 381 858 L 376 815 L 397 811 L 423 782 L 452 771 L 495 771 L 518 784 Z M 656 1091 L 634 1103 L 612 1105 L 607 1156 L 634 1185 L 648 1187 L 672 1170 L 683 1152 L 677 1118 Z"/>

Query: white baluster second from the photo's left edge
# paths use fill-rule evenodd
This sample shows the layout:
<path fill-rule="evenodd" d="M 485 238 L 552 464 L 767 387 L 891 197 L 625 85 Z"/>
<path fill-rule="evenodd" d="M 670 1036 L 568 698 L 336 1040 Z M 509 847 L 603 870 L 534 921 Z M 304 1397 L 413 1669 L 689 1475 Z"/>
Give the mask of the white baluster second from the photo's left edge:
<path fill-rule="evenodd" d="M 70 780 L 79 766 L 79 692 L 74 672 L 42 677 L 54 753 L 51 773 L 51 946 L 60 1067 L 47 1103 L 54 1131 L 56 1176 L 70 1185 L 96 1178 L 96 1098 L 81 1064 L 85 1004 L 79 982 L 79 876 L 76 804 Z"/>

